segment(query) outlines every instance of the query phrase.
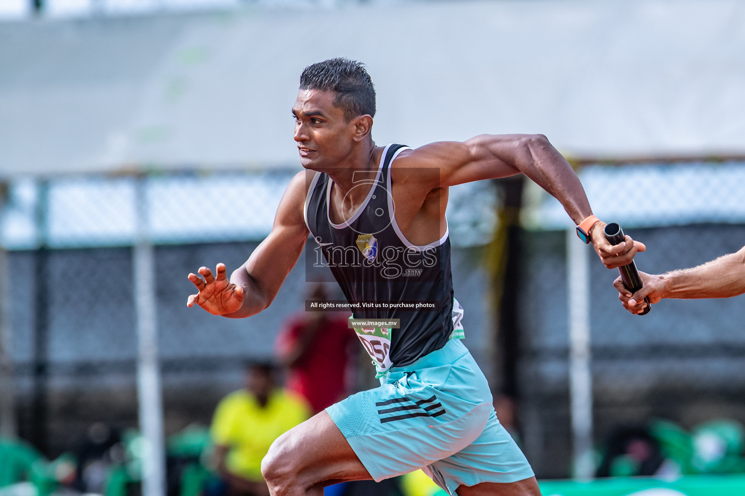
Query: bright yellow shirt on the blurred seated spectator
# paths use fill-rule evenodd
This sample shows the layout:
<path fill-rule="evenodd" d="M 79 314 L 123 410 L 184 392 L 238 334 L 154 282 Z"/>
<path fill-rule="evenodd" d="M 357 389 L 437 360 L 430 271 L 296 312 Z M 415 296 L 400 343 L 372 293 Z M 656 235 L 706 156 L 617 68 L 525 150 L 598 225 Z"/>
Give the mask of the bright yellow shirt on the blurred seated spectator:
<path fill-rule="evenodd" d="M 310 409 L 294 393 L 274 390 L 264 408 L 247 390 L 225 396 L 212 419 L 212 441 L 228 446 L 226 468 L 248 480 L 262 480 L 261 459 L 274 439 L 308 419 Z"/>

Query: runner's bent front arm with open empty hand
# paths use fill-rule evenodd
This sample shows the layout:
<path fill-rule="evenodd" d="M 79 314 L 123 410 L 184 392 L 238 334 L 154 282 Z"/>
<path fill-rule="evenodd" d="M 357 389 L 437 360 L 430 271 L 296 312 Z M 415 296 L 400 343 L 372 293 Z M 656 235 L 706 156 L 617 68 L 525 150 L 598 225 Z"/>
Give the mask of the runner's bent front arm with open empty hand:
<path fill-rule="evenodd" d="M 206 267 L 199 269 L 204 279 L 188 274 L 199 292 L 188 297 L 187 306 L 196 303 L 214 315 L 244 318 L 261 312 L 272 303 L 308 239 L 308 228 L 302 216 L 308 188 L 306 174 L 298 173 L 290 181 L 279 202 L 271 233 L 249 259 L 233 271 L 230 280 L 222 263 L 218 264 L 216 276 Z"/>

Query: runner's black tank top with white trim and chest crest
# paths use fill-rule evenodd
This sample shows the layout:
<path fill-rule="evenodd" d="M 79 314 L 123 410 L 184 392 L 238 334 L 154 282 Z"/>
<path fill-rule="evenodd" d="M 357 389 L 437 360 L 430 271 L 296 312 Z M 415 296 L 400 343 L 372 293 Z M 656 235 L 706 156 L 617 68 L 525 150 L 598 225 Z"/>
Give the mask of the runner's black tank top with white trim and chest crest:
<path fill-rule="evenodd" d="M 379 372 L 411 364 L 450 338 L 463 338 L 463 309 L 453 297 L 448 231 L 428 245 L 413 245 L 393 215 L 390 164 L 405 149 L 386 146 L 377 173 L 354 178 L 359 183 L 355 187 L 370 188 L 370 193 L 342 224 L 334 224 L 329 216 L 329 175 L 316 173 L 305 198 L 305 222 L 317 242 L 315 249 L 323 252 L 352 304 L 353 318 L 400 319 L 399 329 L 355 329 Z M 416 309 L 425 302 L 434 310 Z"/>

